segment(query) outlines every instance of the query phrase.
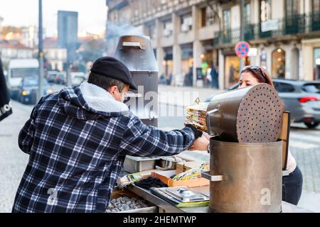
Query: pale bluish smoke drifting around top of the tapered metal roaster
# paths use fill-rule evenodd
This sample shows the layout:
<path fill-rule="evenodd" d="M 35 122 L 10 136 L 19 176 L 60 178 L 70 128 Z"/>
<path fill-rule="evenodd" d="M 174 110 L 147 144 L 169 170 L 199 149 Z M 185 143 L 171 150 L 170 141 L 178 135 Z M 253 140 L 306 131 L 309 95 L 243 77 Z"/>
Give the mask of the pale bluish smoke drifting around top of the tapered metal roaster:
<path fill-rule="evenodd" d="M 143 26 L 132 26 L 129 23 L 107 23 L 107 45 L 106 52 L 108 56 L 114 56 L 115 48 L 120 36 L 122 35 L 144 35 Z"/>

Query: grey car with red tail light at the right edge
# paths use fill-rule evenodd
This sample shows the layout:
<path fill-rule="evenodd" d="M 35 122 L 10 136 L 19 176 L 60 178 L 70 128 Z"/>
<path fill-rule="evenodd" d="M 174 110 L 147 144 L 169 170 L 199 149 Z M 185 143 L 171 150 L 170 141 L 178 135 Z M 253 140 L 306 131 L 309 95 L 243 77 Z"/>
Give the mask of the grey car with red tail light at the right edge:
<path fill-rule="evenodd" d="M 320 124 L 320 81 L 273 79 L 274 87 L 291 113 L 295 123 L 304 123 L 308 128 Z M 238 89 L 239 83 L 228 90 Z M 207 101 L 210 101 L 213 96 Z"/>

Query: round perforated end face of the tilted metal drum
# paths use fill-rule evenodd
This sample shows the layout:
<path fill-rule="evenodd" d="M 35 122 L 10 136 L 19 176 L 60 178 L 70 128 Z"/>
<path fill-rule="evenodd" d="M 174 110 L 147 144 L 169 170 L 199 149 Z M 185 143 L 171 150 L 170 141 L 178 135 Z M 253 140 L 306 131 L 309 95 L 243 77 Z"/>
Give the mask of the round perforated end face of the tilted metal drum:
<path fill-rule="evenodd" d="M 237 135 L 240 143 L 277 141 L 284 106 L 277 91 L 267 84 L 250 89 L 238 109 Z"/>

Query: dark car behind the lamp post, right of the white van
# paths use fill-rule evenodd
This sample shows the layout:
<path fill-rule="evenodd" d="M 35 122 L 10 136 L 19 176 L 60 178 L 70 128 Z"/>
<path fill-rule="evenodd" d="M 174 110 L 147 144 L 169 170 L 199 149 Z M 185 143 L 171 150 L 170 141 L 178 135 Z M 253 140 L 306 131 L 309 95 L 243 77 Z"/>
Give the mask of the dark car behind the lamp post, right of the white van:
<path fill-rule="evenodd" d="M 23 104 L 36 104 L 36 97 L 39 89 L 38 77 L 24 77 L 18 86 L 18 101 Z M 43 96 L 52 94 L 50 84 L 43 79 Z"/>

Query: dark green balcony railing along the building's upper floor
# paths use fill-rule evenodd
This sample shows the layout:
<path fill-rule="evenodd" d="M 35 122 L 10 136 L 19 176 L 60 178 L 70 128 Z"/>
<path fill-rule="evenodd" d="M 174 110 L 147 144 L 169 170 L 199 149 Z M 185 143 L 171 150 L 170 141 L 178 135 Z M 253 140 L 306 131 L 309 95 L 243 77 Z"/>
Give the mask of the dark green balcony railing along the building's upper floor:
<path fill-rule="evenodd" d="M 244 27 L 245 40 L 277 38 L 284 35 L 305 35 L 320 31 L 320 12 L 299 14 L 272 21 L 270 31 L 262 31 L 262 23 L 249 24 Z M 240 41 L 240 28 L 226 29 L 215 33 L 214 45 L 234 44 Z"/>

